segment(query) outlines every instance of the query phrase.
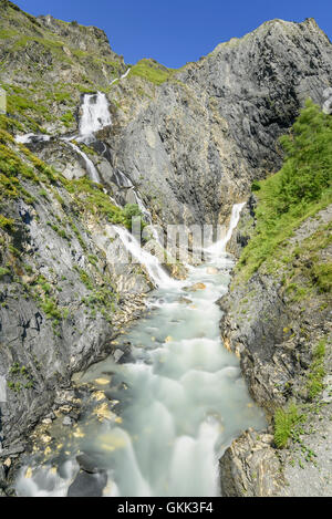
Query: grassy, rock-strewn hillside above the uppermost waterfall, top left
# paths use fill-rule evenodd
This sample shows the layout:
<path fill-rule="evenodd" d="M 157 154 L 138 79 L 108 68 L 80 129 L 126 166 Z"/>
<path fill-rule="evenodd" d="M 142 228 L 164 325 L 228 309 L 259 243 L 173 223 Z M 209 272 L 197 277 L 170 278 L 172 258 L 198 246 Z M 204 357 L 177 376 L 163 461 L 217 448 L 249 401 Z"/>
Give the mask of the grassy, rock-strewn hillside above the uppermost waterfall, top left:
<path fill-rule="evenodd" d="M 11 2 L 1 2 L 0 17 L 0 81 L 8 101 L 3 129 L 43 132 L 43 125 L 56 122 L 72 129 L 81 93 L 107 91 L 124 70 L 122 59 L 92 28 L 74 25 L 65 37 L 71 23 L 55 21 L 63 34 L 53 32 Z M 74 31 L 91 42 L 91 50 L 77 46 Z"/>

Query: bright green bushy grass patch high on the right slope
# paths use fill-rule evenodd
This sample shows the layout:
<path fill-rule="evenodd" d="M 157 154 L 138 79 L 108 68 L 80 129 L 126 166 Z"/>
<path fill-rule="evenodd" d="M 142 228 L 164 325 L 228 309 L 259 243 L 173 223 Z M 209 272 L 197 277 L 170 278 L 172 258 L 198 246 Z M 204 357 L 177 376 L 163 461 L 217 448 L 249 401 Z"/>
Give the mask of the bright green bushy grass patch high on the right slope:
<path fill-rule="evenodd" d="M 281 138 L 286 159 L 280 172 L 252 186 L 257 193 L 257 227 L 238 271 L 249 279 L 262 263 L 271 267 L 301 222 L 332 203 L 332 117 L 308 101 L 289 135 Z M 329 287 L 324 267 L 321 287 Z"/>

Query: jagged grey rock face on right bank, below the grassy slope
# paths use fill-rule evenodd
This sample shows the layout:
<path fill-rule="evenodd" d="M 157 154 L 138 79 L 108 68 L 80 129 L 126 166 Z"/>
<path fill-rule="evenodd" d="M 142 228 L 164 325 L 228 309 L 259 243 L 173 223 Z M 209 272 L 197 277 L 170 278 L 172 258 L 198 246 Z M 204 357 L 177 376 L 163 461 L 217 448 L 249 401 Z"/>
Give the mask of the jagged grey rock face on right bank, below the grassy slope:
<path fill-rule="evenodd" d="M 248 209 L 249 205 L 237 236 L 241 228 L 248 229 Z M 331 218 L 329 206 L 317 218 L 305 220 L 289 240 L 288 251 Z M 330 257 L 331 249 L 322 253 Z M 284 404 L 291 394 L 301 394 L 311 349 L 321 335 L 329 333 L 331 320 L 329 307 L 323 305 L 324 294 L 312 295 L 310 304 L 303 308 L 284 291 L 282 276 L 282 270 L 274 274 L 259 271 L 245 284 L 237 284 L 236 277 L 231 292 L 220 300 L 225 343 L 240 357 L 252 396 L 268 412 Z"/>

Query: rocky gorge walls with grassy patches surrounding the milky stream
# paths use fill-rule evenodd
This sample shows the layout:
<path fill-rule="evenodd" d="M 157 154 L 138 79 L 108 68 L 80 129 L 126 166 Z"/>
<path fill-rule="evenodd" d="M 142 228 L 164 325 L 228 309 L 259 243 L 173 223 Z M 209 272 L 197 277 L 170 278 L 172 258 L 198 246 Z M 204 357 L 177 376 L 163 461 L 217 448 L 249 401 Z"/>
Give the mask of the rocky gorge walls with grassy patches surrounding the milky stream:
<path fill-rule="evenodd" d="M 34 440 L 38 450 L 50 448 L 48 427 L 55 417 L 76 422 L 92 398 L 98 418 L 121 423 L 114 395 L 107 398 L 96 386 L 89 393 L 72 376 L 110 355 L 132 360 L 131 341 L 120 338 L 146 315 L 147 294 L 160 287 L 158 266 L 126 261 L 132 216 L 146 226 L 148 251 L 151 224 L 162 230 L 169 224 L 229 224 L 235 204 L 246 201 L 228 243 L 238 263 L 219 302 L 220 331 L 224 345 L 240 359 L 268 428 L 225 445 L 221 492 L 331 496 L 325 177 L 311 205 L 303 204 L 302 212 L 297 206 L 293 219 L 284 220 L 289 233 L 278 229 L 270 256 L 263 250 L 258 261 L 253 252 L 264 239 L 264 204 L 273 205 L 264 179 L 279 175 L 290 153 L 279 137 L 291 132 L 308 98 L 330 111 L 328 37 L 312 19 L 273 20 L 197 63 L 169 70 L 147 59 L 126 65 L 96 28 L 34 18 L 7 0 L 0 17 L 7 97 L 0 115 L 0 376 L 7 396 L 0 404 L 0 495 L 14 494 L 20 455 L 30 454 Z M 321 116 L 320 128 L 329 129 L 330 115 Z M 329 133 L 323 149 L 330 143 Z M 303 200 L 305 194 L 303 188 Z M 190 266 L 165 263 L 174 277 L 188 276 Z M 220 272 L 216 280 L 224 291 Z M 200 303 L 198 295 L 195 305 Z M 170 349 L 173 334 L 169 326 L 164 340 Z M 102 371 L 97 380 L 104 378 Z M 278 421 L 289 429 L 279 445 Z M 81 459 L 81 467 L 86 464 Z M 80 477 L 97 494 L 106 486 L 95 467 Z"/>

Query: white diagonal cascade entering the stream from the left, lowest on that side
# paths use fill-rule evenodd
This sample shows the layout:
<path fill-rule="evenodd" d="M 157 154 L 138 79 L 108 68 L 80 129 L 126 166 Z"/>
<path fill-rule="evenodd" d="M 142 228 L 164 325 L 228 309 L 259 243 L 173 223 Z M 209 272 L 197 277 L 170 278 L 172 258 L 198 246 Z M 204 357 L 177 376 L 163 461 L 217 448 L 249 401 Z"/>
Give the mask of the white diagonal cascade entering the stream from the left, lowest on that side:
<path fill-rule="evenodd" d="M 172 279 L 167 272 L 165 272 L 155 256 L 152 256 L 149 252 L 142 249 L 136 238 L 134 238 L 134 236 L 131 235 L 127 229 L 123 227 L 115 227 L 115 230 L 126 250 L 131 252 L 131 255 L 146 268 L 151 280 L 155 283 L 156 287 L 163 289 L 179 287 L 179 282 Z"/>

